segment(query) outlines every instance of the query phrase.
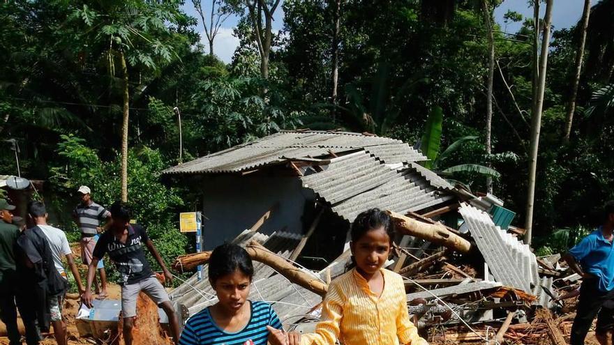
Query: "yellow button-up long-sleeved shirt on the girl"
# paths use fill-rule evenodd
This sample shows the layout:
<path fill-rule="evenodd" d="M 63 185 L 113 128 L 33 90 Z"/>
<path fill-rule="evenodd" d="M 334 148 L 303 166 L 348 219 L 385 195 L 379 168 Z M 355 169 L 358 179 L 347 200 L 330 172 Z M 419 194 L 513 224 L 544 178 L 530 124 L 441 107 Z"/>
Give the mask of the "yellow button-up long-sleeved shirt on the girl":
<path fill-rule="evenodd" d="M 384 290 L 378 298 L 356 269 L 329 285 L 315 333 L 302 335 L 301 345 L 425 345 L 407 314 L 403 278 L 382 269 Z"/>

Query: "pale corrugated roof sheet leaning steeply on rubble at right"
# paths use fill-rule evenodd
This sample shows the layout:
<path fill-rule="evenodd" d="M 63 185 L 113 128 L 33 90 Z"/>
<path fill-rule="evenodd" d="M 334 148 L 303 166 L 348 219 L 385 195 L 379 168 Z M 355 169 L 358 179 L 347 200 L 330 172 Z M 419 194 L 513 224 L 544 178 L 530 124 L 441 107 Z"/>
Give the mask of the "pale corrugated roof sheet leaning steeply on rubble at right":
<path fill-rule="evenodd" d="M 497 282 L 539 296 L 537 260 L 530 247 L 497 227 L 487 213 L 473 206 L 461 204 L 459 212 Z"/>

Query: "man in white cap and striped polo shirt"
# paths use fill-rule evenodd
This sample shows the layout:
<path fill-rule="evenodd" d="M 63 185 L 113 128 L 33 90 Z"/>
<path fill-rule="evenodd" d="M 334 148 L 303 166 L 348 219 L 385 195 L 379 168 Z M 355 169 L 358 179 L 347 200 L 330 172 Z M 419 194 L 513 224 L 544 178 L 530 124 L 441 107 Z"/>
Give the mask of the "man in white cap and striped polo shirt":
<path fill-rule="evenodd" d="M 93 249 L 98 241 L 98 233 L 105 231 L 111 225 L 111 213 L 103 206 L 93 202 L 91 199 L 91 190 L 89 187 L 82 185 L 77 190 L 81 198 L 81 202 L 73 211 L 73 218 L 81 231 L 81 259 L 84 265 L 91 263 Z M 100 222 L 105 221 L 105 225 L 101 228 Z M 100 275 L 100 293 L 99 298 L 107 296 L 107 275 L 103 261 L 98 261 L 98 273 Z M 94 276 L 96 277 L 96 276 Z M 94 286 L 98 290 L 98 283 L 94 279 Z"/>

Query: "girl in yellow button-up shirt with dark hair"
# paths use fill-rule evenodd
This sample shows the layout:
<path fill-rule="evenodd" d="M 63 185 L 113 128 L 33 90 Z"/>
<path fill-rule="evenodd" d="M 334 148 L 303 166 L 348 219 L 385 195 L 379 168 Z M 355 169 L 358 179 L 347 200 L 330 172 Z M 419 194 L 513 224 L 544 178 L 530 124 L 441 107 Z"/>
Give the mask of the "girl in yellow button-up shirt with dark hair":
<path fill-rule="evenodd" d="M 390 216 L 377 208 L 359 214 L 351 237 L 354 267 L 329 285 L 315 333 L 300 336 L 270 329 L 271 344 L 427 344 L 407 314 L 402 277 L 382 268 L 394 237 Z"/>

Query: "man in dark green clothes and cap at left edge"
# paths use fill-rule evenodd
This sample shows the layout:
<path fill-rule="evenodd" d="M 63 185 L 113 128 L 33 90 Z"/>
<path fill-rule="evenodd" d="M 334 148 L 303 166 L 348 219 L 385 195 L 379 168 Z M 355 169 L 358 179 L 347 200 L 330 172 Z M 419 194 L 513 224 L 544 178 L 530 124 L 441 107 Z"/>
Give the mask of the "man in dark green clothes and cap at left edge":
<path fill-rule="evenodd" d="M 19 229 L 13 225 L 15 206 L 0 199 L 0 319 L 6 325 L 10 345 L 21 344 L 17 330 L 17 309 L 15 308 L 15 254 L 13 247 L 19 236 Z"/>

